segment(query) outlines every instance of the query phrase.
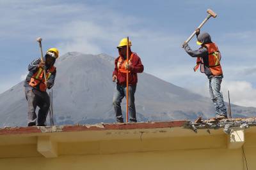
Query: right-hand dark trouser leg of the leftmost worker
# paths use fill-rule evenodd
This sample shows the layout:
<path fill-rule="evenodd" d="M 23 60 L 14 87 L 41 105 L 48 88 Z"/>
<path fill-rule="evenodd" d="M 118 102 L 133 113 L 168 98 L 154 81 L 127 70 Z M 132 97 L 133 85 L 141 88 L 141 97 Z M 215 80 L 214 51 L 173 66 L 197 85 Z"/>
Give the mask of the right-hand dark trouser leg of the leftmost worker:
<path fill-rule="evenodd" d="M 50 107 L 50 97 L 47 94 L 47 92 L 40 92 L 40 102 L 38 106 L 40 107 L 40 110 L 38 111 L 38 126 L 45 126 L 45 120 L 47 118 L 47 114 Z"/>

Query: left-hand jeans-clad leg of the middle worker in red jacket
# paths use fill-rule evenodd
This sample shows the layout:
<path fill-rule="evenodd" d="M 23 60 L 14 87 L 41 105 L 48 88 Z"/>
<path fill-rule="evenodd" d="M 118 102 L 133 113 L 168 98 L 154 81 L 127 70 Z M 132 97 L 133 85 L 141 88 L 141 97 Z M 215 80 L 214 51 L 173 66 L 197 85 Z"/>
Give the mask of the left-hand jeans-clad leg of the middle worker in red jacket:
<path fill-rule="evenodd" d="M 121 102 L 124 96 L 124 88 L 120 85 L 116 85 L 113 96 L 113 108 L 116 114 L 116 122 L 118 123 L 124 123 L 124 118 L 121 109 Z"/>

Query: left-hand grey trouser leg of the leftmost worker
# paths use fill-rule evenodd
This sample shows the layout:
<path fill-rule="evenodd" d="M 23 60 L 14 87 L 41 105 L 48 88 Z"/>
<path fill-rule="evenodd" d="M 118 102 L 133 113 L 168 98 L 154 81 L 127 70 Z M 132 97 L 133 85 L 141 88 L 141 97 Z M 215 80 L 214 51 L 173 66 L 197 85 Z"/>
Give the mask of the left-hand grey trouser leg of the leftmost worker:
<path fill-rule="evenodd" d="M 25 87 L 25 96 L 28 101 L 28 126 L 36 125 L 36 95 L 32 87 Z"/>

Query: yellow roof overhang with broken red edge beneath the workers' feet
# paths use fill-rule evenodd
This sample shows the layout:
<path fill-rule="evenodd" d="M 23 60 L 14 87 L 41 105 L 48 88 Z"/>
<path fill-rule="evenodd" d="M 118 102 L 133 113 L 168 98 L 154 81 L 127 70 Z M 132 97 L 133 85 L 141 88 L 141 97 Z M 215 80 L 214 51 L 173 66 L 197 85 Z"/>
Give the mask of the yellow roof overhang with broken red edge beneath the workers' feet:
<path fill-rule="evenodd" d="M 18 155 L 58 157 L 58 155 L 70 154 L 241 148 L 245 141 L 245 133 L 253 134 L 247 135 L 246 143 L 254 146 L 255 126 L 256 118 L 230 118 L 215 122 L 177 120 L 127 124 L 5 127 L 0 129 L 0 158 Z"/>

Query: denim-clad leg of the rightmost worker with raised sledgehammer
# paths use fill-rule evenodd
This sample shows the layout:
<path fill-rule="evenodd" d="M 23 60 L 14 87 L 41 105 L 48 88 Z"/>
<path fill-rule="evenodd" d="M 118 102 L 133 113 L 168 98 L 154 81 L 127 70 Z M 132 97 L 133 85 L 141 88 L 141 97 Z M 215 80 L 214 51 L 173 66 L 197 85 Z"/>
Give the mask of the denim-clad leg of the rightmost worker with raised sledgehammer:
<path fill-rule="evenodd" d="M 223 117 L 227 117 L 227 109 L 223 101 L 223 96 L 220 92 L 221 81 L 222 81 L 221 76 L 214 76 L 212 78 L 212 92 L 216 97 L 216 105 L 218 106 L 219 115 Z"/>

